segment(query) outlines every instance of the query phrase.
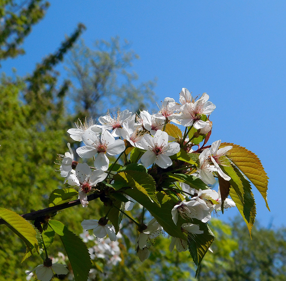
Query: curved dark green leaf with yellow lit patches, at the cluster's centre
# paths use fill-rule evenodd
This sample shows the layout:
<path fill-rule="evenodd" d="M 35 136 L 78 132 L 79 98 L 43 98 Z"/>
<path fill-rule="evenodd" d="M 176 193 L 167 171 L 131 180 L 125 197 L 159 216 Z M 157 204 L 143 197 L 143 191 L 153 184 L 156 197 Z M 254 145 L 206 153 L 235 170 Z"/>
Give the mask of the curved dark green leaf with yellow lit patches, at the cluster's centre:
<path fill-rule="evenodd" d="M 113 179 L 114 181 L 126 183 L 129 187 L 138 189 L 142 194 L 147 195 L 150 200 L 160 206 L 155 194 L 156 184 L 150 175 L 138 171 L 124 171 L 114 175 Z"/>

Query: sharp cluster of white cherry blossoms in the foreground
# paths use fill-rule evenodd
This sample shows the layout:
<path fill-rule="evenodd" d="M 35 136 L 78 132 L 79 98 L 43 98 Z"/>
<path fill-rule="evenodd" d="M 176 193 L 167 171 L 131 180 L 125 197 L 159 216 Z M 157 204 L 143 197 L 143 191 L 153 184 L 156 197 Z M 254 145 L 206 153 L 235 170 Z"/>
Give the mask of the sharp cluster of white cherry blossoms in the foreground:
<path fill-rule="evenodd" d="M 158 165 L 160 168 L 168 168 L 173 163 L 170 156 L 175 155 L 183 147 L 189 153 L 192 150 L 192 139 L 187 138 L 187 128 L 182 139 L 175 139 L 165 132 L 166 124 L 174 122 L 182 126 L 195 128 L 196 136 L 206 135 L 212 129 L 212 122 L 206 117 L 216 108 L 212 102 L 208 101 L 209 96 L 204 93 L 198 99 L 193 98 L 191 93 L 182 88 L 177 103 L 173 98 L 165 98 L 157 113 L 150 114 L 143 110 L 136 116 L 128 110 L 117 114 L 107 112 L 106 116 L 99 118 L 100 124 L 95 124 L 93 119 L 89 122 L 78 122 L 77 128 L 71 128 L 67 132 L 73 140 L 80 141 L 84 144 L 78 147 L 76 152 L 81 158 L 94 158 L 94 167 L 89 167 L 86 163 L 78 163 L 74 160 L 74 153 L 68 143 L 69 152 L 65 155 L 59 155 L 62 159 L 60 172 L 65 178 L 64 182 L 69 185 L 78 187 L 79 199 L 83 207 L 87 207 L 87 194 L 96 190 L 98 183 L 106 180 L 108 171 L 112 164 L 106 155 L 122 155 L 128 147 L 136 147 L 146 152 L 142 155 L 140 161 L 148 168 L 151 165 Z M 204 119 L 204 120 L 202 120 Z M 183 134 L 183 133 L 182 133 Z M 190 145 L 188 145 L 190 143 Z M 194 171 L 194 175 L 199 177 L 205 184 L 214 184 L 216 182 L 214 175 L 219 175 L 229 181 L 230 177 L 226 175 L 221 166 L 226 165 L 226 153 L 232 148 L 226 146 L 219 149 L 221 140 L 212 143 L 211 146 L 198 149 L 199 165 Z M 119 158 L 119 157 L 118 157 Z M 186 170 L 186 173 L 191 173 Z M 219 191 L 212 189 L 195 190 L 190 186 L 180 183 L 179 188 L 182 190 L 182 201 L 174 205 L 172 209 L 172 219 L 177 225 L 178 215 L 184 219 L 198 219 L 203 223 L 208 222 L 213 211 L 221 208 L 221 197 Z M 129 198 L 129 197 L 128 197 Z M 126 204 L 129 205 L 129 204 Z M 232 207 L 235 203 L 231 199 L 224 201 L 224 208 Z M 128 207 L 130 210 L 132 207 Z M 108 219 L 102 217 L 100 220 L 89 219 L 82 222 L 84 229 L 93 229 L 94 235 L 98 238 L 109 236 L 110 241 L 116 241 L 116 233 L 112 225 L 107 224 Z M 136 251 L 141 261 L 148 258 L 148 248 L 152 245 L 151 239 L 156 238 L 162 233 L 163 228 L 155 220 L 151 219 L 148 225 L 138 230 L 140 235 L 136 241 Z M 199 225 L 192 223 L 182 223 L 182 232 L 187 236 L 202 234 Z M 179 252 L 187 249 L 186 240 L 172 237 L 170 250 L 174 246 Z M 97 245 L 98 246 L 98 245 Z"/>

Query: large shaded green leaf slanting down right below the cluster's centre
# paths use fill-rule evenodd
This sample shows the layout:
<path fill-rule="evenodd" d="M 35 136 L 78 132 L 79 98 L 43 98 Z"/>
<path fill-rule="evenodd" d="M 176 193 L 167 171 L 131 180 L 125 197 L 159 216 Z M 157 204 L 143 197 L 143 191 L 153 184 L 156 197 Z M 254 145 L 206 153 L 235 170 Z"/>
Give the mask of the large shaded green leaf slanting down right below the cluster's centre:
<path fill-rule="evenodd" d="M 136 188 L 126 189 L 125 193 L 144 206 L 168 234 L 186 240 L 186 236 L 181 231 L 180 221 L 178 221 L 178 225 L 175 225 L 172 219 L 171 212 L 176 203 L 168 195 L 157 192 L 158 202 L 161 206 L 159 207 L 158 204 L 150 200 L 150 197 Z"/>

